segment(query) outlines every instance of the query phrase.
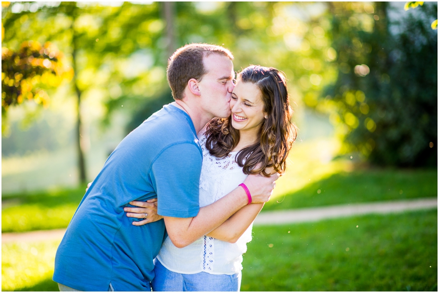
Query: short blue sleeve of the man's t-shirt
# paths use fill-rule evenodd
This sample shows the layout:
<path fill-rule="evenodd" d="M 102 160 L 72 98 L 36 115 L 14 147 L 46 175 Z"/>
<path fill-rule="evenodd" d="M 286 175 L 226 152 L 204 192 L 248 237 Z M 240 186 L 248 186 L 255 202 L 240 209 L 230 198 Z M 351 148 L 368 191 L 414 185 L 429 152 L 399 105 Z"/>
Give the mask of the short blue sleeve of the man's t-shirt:
<path fill-rule="evenodd" d="M 160 153 L 150 171 L 159 215 L 198 215 L 201 164 L 202 153 L 194 143 L 173 144 Z"/>

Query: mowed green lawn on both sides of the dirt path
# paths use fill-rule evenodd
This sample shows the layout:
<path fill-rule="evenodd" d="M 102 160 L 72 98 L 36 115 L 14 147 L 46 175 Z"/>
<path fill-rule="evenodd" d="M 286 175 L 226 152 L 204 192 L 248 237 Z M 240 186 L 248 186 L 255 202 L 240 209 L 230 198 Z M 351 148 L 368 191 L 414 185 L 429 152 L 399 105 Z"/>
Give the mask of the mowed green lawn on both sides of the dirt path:
<path fill-rule="evenodd" d="M 344 167 L 311 168 L 314 177 L 287 172 L 264 211 L 438 194 L 437 170 Z M 2 232 L 67 227 L 84 193 L 85 185 L 2 195 Z M 256 226 L 241 291 L 437 291 L 437 222 L 435 209 Z M 51 278 L 59 243 L 2 244 L 2 290 L 58 291 Z"/>

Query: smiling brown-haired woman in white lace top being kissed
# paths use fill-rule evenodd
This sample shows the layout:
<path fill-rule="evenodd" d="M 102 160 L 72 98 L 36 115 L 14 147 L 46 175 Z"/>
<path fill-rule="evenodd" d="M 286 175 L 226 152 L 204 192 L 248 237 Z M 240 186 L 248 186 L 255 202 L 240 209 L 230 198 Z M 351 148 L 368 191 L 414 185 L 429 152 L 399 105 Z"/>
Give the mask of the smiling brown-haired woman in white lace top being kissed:
<path fill-rule="evenodd" d="M 282 174 L 296 138 L 285 78 L 275 68 L 252 65 L 239 73 L 230 107 L 231 117 L 212 119 L 199 134 L 200 207 L 235 189 L 249 174 Z M 220 227 L 181 249 L 167 237 L 156 259 L 153 290 L 239 291 L 242 254 L 262 206 L 249 202 Z"/>

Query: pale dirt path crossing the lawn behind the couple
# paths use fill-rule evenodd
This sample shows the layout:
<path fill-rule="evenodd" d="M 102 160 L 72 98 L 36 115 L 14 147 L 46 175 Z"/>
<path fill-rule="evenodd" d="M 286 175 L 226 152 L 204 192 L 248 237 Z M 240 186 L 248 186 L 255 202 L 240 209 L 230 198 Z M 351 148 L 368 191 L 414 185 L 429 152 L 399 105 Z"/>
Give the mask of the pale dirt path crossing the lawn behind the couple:
<path fill-rule="evenodd" d="M 381 201 L 364 204 L 345 204 L 297 210 L 262 212 L 255 220 L 255 225 L 278 225 L 287 223 L 312 222 L 327 218 L 346 217 L 365 214 L 400 213 L 421 209 L 437 209 L 438 198 L 420 198 L 399 201 Z M 60 240 L 65 229 L 41 230 L 26 233 L 2 233 L 1 243 L 15 241 Z"/>

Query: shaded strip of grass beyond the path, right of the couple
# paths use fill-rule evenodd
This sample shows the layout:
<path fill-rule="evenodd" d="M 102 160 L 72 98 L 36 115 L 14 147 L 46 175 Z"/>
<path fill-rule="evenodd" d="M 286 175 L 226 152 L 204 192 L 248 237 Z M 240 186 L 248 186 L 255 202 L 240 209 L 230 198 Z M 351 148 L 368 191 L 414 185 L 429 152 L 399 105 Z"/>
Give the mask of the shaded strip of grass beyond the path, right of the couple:
<path fill-rule="evenodd" d="M 437 196 L 437 169 L 364 169 L 335 174 L 279 196 L 264 211 Z"/>

